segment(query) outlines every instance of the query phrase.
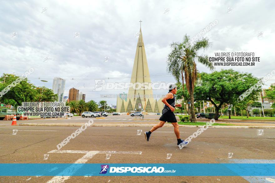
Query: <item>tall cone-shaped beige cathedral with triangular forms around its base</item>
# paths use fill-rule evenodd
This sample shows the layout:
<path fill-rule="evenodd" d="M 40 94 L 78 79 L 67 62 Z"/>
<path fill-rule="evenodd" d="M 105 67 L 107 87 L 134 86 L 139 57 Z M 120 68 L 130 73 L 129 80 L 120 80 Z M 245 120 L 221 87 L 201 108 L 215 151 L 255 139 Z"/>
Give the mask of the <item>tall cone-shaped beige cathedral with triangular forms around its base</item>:
<path fill-rule="evenodd" d="M 151 83 L 148 63 L 144 48 L 141 28 L 133 65 L 131 83 Z M 145 111 L 148 113 L 160 113 L 163 109 L 163 98 L 154 99 L 153 89 L 129 87 L 128 94 L 119 94 L 117 98 L 117 112 L 127 113 L 133 111 Z"/>

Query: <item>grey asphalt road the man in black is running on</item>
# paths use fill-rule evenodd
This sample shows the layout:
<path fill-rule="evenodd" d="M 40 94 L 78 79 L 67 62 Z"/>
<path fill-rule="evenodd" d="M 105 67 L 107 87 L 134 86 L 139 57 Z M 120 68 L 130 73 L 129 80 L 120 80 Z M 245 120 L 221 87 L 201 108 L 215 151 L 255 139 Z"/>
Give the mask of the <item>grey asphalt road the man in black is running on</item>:
<path fill-rule="evenodd" d="M 30 120 L 31 121 L 31 120 Z M 35 120 L 34 120 L 35 121 Z M 1 126 L 0 161 L 1 163 L 74 163 L 81 159 L 80 153 L 54 153 L 57 144 L 72 134 L 78 127 L 42 126 Z M 142 152 L 141 154 L 98 153 L 86 163 L 227 163 L 233 160 L 253 161 L 253 159 L 275 159 L 275 129 L 209 128 L 183 149 L 176 145 L 173 128 L 160 128 L 153 132 L 150 141 L 144 139 L 143 127 L 89 127 L 72 139 L 61 150 L 77 151 L 123 151 Z M 185 139 L 198 128 L 180 128 Z M 16 135 L 12 135 L 17 130 Z M 171 153 L 171 159 L 166 159 Z M 228 158 L 228 153 L 233 153 Z M 43 160 L 48 154 L 47 160 Z M 253 177 L 225 176 L 73 176 L 58 182 L 253 182 Z M 266 181 L 263 177 L 260 181 Z M 0 177 L 0 182 L 47 182 L 51 176 L 8 176 Z"/>

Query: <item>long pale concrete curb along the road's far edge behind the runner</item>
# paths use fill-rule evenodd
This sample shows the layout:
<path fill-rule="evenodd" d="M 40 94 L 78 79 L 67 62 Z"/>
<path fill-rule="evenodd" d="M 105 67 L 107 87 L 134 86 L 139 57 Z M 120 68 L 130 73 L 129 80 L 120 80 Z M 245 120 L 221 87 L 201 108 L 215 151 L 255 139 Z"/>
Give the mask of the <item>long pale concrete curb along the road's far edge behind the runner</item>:
<path fill-rule="evenodd" d="M 19 126 L 82 126 L 85 123 L 20 123 Z M 153 127 L 155 124 L 101 124 L 96 123 L 94 127 Z M 173 127 L 172 124 L 165 124 L 163 127 Z M 201 128 L 200 125 L 179 125 L 179 127 Z M 209 128 L 275 128 L 275 126 L 208 126 Z"/>

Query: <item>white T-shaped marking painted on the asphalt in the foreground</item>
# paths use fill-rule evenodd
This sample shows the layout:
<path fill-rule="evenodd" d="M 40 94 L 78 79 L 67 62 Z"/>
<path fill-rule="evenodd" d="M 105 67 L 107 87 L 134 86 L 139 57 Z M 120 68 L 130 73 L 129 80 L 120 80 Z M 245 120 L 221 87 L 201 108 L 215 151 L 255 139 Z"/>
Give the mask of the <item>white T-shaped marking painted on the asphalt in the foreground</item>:
<path fill-rule="evenodd" d="M 141 151 L 78 151 L 78 150 L 53 150 L 50 151 L 48 153 L 83 153 L 85 154 L 82 158 L 78 159 L 77 161 L 75 161 L 74 163 L 79 163 L 79 164 L 83 164 L 86 163 L 88 160 L 92 159 L 94 157 L 94 155 L 96 154 L 141 154 Z M 62 173 L 66 173 L 68 174 L 71 173 L 75 173 L 76 171 L 78 171 L 78 169 L 80 168 L 70 168 L 71 166 L 69 166 L 68 168 L 66 168 L 65 170 L 62 171 Z M 62 174 L 61 173 L 61 174 Z M 70 178 L 70 176 L 54 176 L 51 180 L 47 181 L 47 183 L 63 183 L 64 181 L 68 180 Z"/>

